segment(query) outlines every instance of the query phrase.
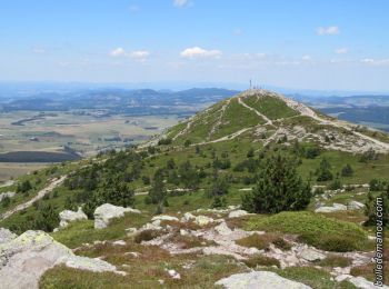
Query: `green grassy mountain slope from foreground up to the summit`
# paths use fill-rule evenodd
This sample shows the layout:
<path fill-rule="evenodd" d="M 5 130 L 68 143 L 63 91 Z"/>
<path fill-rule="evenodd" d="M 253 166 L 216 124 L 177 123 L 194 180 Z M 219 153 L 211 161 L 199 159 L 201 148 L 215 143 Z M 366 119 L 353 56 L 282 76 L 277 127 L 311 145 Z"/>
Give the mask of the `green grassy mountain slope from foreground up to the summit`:
<path fill-rule="evenodd" d="M 170 141 L 166 141 L 167 139 Z M 159 140 L 164 141 L 158 144 Z M 265 249 L 269 243 L 277 243 L 277 238 L 282 238 L 295 245 L 307 243 L 333 251 L 332 259 L 326 259 L 326 265 L 309 262 L 303 267 L 275 269 L 271 266 L 277 265 L 277 260 L 263 259 L 261 256 L 262 259 L 258 257 L 259 259 L 246 260 L 249 267 L 256 268 L 258 263 L 263 266 L 261 268 L 265 270 L 276 270 L 312 288 L 353 288 L 347 281 L 333 281 L 329 272 L 339 267 L 338 262 L 350 262 L 348 256 L 353 252 L 343 256 L 345 250 L 358 249 L 361 255 L 369 256 L 373 250 L 373 242 L 367 236 L 373 235 L 373 228 L 361 226 L 367 219 L 363 209 L 331 213 L 316 213 L 315 209 L 317 206 L 331 206 L 335 202 L 365 202 L 369 190 L 366 183 L 372 179 L 380 185 L 373 196 L 380 193 L 389 176 L 387 146 L 389 144 L 382 138 L 376 139 L 373 130 L 361 131 L 350 123 L 317 113 L 273 92 L 247 91 L 178 123 L 144 146 L 102 153 L 80 162 L 63 163 L 57 169 L 38 171 L 37 175 L 17 180 L 12 189 L 24 179 L 31 181 L 33 189 L 27 197 L 18 193 L 16 203 L 12 200 L 10 208 L 22 202 L 24 198 L 32 198 L 41 188 L 39 183 L 48 183 L 51 178 L 68 175 L 62 186 L 49 192 L 34 206 L 0 221 L 0 227 L 11 228 L 17 232 L 41 229 L 34 220 L 40 219 L 48 206 L 54 215 L 66 208 L 86 206 L 99 192 L 108 191 L 110 186 L 114 185 L 110 181 L 114 180 L 124 182 L 134 191 L 132 207 L 140 209 L 141 215 L 127 215 L 101 231 L 93 229 L 92 220 L 84 220 L 52 236 L 71 248 L 78 248 L 78 255 L 101 257 L 128 272 L 128 276 L 90 273 L 56 267 L 44 275 L 42 288 L 126 288 L 130 282 L 134 288 L 157 288 L 161 279 L 167 288 L 212 288 L 213 282 L 222 277 L 247 271 L 248 267 L 232 257 L 205 253 L 170 255 L 171 246 L 182 246 L 186 249 L 210 246 L 203 245 L 207 242 L 199 237 L 181 235 L 180 229 L 199 232 L 199 228 L 193 223 L 168 223 L 172 231 L 167 239 L 170 243 L 163 248 L 139 243 L 133 236 L 127 233 L 126 229 L 130 227 L 140 228 L 150 222 L 158 211 L 158 206 L 150 202 L 148 192 L 156 179 L 161 178 L 168 195 L 164 205 L 167 215 L 181 218 L 184 212 L 191 211 L 215 219 L 222 218 L 230 228 L 266 231 L 262 237 L 240 240 L 241 243 L 249 243 L 248 247 Z M 215 199 L 209 192 L 216 178 L 225 178 L 228 182 L 228 192 L 223 196 L 225 203 L 221 207 L 240 206 L 241 197 L 256 187 L 257 175 L 262 170 L 266 159 L 275 153 L 293 159 L 298 173 L 305 181 L 310 180 L 311 185 L 329 191 L 311 198 L 307 211 L 300 212 L 252 215 L 232 219 L 228 218 L 226 211 L 211 210 Z M 317 171 L 323 159 L 330 163 L 332 180 L 318 180 Z M 343 176 L 342 169 L 347 163 L 352 168 L 352 173 Z M 36 178 L 40 178 L 41 181 L 37 183 Z M 340 182 L 336 183 L 339 190 L 331 189 L 335 180 Z M 0 191 L 9 189 L 0 188 Z M 0 212 L 6 210 L 8 208 L 3 207 Z M 53 221 L 53 226 L 58 226 L 58 220 Z M 320 236 L 313 236 L 312 231 L 319 230 L 318 228 Z M 212 230 L 212 226 L 203 230 Z M 119 239 L 124 240 L 126 246 L 114 246 L 113 241 Z M 288 252 L 287 248 L 282 250 Z M 139 257 L 129 252 L 137 252 Z M 320 269 L 313 268 L 315 266 L 320 266 Z M 191 269 L 184 269 L 187 267 Z M 371 280 L 370 267 L 352 267 L 351 275 Z M 167 277 L 167 268 L 179 271 L 181 279 Z M 205 277 L 200 282 L 199 276 Z"/>

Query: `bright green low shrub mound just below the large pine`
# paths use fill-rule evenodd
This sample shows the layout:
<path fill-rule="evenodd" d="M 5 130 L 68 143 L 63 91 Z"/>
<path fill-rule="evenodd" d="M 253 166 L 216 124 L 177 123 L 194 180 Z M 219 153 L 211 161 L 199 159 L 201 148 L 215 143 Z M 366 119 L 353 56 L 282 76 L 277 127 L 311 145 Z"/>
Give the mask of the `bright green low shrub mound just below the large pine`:
<path fill-rule="evenodd" d="M 295 233 L 303 242 L 329 251 L 363 250 L 367 233 L 357 225 L 312 212 L 281 212 L 247 222 L 247 229 Z"/>

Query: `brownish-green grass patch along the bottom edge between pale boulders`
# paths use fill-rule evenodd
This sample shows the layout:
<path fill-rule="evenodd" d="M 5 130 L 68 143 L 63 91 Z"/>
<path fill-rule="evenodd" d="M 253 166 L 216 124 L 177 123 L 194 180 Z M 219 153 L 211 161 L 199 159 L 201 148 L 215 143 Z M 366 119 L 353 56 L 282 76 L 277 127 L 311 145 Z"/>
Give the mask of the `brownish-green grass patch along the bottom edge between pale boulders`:
<path fill-rule="evenodd" d="M 142 262 L 138 258 L 127 258 L 120 270 L 127 276 L 114 273 L 96 273 L 69 269 L 57 266 L 47 271 L 40 280 L 42 289 L 73 289 L 73 288 L 213 288 L 213 283 L 232 273 L 245 271 L 245 268 L 233 259 L 225 256 L 169 256 L 158 248 L 147 247 L 141 250 Z M 123 252 L 120 252 L 123 256 Z M 123 259 L 124 261 L 124 259 Z M 183 265 L 191 265 L 183 269 Z M 168 276 L 166 269 L 174 269 L 181 275 L 176 280 Z M 161 286 L 158 280 L 163 280 Z"/>

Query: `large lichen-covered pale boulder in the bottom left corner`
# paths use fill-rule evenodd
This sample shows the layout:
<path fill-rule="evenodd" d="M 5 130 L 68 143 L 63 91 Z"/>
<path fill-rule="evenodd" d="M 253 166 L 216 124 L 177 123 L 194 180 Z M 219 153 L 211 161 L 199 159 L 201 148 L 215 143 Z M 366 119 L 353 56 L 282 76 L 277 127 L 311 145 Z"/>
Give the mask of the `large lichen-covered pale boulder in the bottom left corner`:
<path fill-rule="evenodd" d="M 91 271 L 117 272 L 116 267 L 106 261 L 77 257 L 48 233 L 30 230 L 0 243 L 0 288 L 38 288 L 40 277 L 60 263 Z"/>

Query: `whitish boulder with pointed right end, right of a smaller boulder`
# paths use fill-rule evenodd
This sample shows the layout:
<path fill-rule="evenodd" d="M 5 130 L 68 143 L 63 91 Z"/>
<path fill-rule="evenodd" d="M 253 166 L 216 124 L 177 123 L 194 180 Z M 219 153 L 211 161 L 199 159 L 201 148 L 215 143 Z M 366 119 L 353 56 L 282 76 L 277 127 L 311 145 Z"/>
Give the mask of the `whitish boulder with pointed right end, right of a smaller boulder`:
<path fill-rule="evenodd" d="M 94 229 L 103 229 L 114 218 L 121 218 L 126 212 L 140 213 L 140 210 L 104 203 L 94 210 Z"/>

